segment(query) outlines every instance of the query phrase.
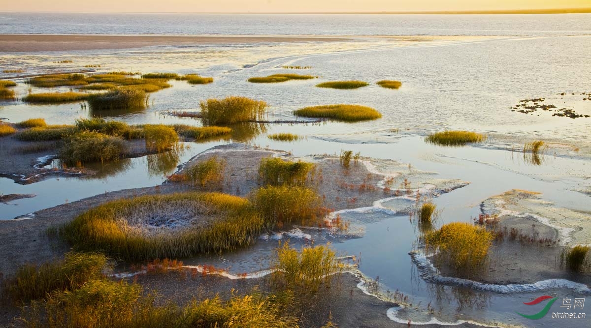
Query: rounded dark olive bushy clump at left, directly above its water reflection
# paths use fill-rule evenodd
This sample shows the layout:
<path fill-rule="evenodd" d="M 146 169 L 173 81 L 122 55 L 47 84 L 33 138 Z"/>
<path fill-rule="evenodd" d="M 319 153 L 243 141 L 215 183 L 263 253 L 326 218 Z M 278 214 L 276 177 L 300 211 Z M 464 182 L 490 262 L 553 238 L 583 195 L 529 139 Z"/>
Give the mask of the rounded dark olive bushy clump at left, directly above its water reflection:
<path fill-rule="evenodd" d="M 58 156 L 67 165 L 80 165 L 116 160 L 125 150 L 124 140 L 120 137 L 83 131 L 64 138 L 64 145 L 59 150 Z"/>

